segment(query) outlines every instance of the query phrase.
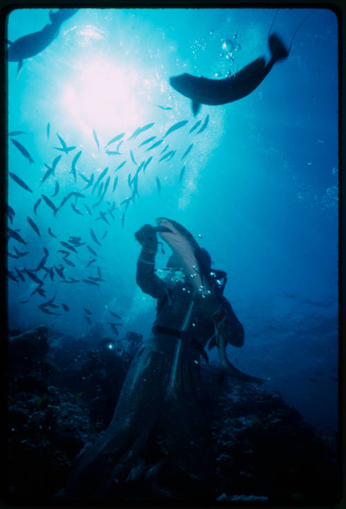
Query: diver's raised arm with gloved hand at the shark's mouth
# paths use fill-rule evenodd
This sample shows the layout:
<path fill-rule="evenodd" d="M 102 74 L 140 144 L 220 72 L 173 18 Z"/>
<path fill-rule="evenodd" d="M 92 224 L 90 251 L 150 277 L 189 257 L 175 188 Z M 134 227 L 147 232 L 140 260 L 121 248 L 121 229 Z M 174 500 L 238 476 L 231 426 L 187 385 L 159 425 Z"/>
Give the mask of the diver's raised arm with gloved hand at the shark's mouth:
<path fill-rule="evenodd" d="M 142 246 L 137 261 L 137 284 L 144 293 L 157 299 L 165 291 L 165 284 L 154 272 L 157 251 L 156 230 L 152 225 L 144 225 L 134 236 Z"/>

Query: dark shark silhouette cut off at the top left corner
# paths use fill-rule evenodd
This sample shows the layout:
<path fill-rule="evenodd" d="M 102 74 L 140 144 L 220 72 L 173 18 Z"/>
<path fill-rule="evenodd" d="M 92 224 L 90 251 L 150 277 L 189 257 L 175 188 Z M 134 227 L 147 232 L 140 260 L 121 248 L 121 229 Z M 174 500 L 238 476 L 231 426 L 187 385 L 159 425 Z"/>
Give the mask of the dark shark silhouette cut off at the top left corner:
<path fill-rule="evenodd" d="M 51 23 L 46 24 L 42 30 L 19 37 L 15 42 L 7 41 L 8 62 L 18 62 L 17 75 L 23 66 L 23 60 L 34 57 L 54 41 L 59 34 L 60 26 L 66 19 L 77 12 L 78 9 L 59 9 L 57 12 L 49 11 Z"/>

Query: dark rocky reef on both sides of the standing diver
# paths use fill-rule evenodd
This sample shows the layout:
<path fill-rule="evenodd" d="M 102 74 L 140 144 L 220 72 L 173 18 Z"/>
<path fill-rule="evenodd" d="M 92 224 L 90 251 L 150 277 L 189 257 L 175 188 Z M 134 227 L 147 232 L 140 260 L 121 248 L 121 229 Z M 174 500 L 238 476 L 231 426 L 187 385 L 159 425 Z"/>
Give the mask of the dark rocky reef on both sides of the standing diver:
<path fill-rule="evenodd" d="M 78 454 L 107 427 L 142 338 L 131 333 L 114 342 L 96 333 L 90 341 L 50 340 L 44 326 L 10 334 L 11 503 L 52 501 L 66 487 Z M 217 373 L 217 365 L 203 364 L 199 387 L 217 464 L 206 486 L 213 501 L 329 505 L 338 490 L 335 439 L 317 436 L 279 393 L 232 378 L 220 385 Z M 141 500 L 140 494 L 133 498 Z"/>

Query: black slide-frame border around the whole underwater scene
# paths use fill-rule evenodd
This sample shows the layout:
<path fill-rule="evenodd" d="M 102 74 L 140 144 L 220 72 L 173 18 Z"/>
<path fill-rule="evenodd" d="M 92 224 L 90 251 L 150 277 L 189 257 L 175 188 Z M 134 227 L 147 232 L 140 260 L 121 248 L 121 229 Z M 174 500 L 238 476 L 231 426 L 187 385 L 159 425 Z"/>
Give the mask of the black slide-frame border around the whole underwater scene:
<path fill-rule="evenodd" d="M 327 8 L 332 10 L 338 18 L 338 184 L 339 184 L 339 203 L 338 203 L 338 454 L 339 454 L 339 492 L 335 494 L 335 500 L 331 501 L 329 508 L 343 509 L 346 507 L 346 356 L 345 356 L 345 320 L 346 317 L 346 304 L 345 304 L 345 213 L 346 201 L 343 196 L 346 196 L 345 190 L 345 169 L 343 168 L 343 161 L 345 160 L 346 151 L 346 135 L 345 135 L 345 89 L 344 83 L 346 80 L 346 65 L 343 65 L 343 58 L 345 57 L 345 21 L 346 16 L 346 3 L 343 0 L 325 0 L 322 2 L 305 0 L 291 1 L 263 1 L 253 0 L 247 2 L 242 0 L 102 0 L 102 1 L 87 1 L 87 0 L 57 0 L 55 2 L 45 0 L 17 0 L 17 1 L 4 1 L 0 6 L 0 324 L 2 329 L 2 374 L 3 374 L 3 410 L 2 416 L 7 416 L 7 348 L 6 348 L 6 333 L 8 330 L 8 315 L 7 315 L 7 286 L 5 269 L 6 263 L 6 204 L 8 196 L 8 100 L 7 100 L 7 62 L 6 62 L 6 39 L 7 39 L 7 17 L 12 10 L 17 8 L 62 8 L 62 7 L 80 7 L 80 8 Z M 7 450 L 7 418 L 0 420 L 3 425 L 3 451 Z M 5 456 L 5 455 L 3 455 Z M 8 461 L 5 458 L 4 469 L 7 472 Z M 8 504 L 6 500 L 6 479 L 7 476 L 1 476 L 1 505 L 4 507 L 13 507 L 11 503 Z M 42 501 L 42 506 L 46 507 L 47 504 Z M 53 504 L 52 504 L 53 506 Z M 59 504 L 54 505 L 58 507 Z M 242 503 L 234 505 L 233 503 L 226 504 L 226 507 L 275 507 L 268 503 Z M 285 504 L 285 507 L 293 506 L 292 503 Z M 66 507 L 66 506 L 65 506 Z M 221 507 L 221 504 L 218 505 Z M 295 508 L 309 506 L 295 505 Z M 320 506 L 321 507 L 321 506 Z"/>

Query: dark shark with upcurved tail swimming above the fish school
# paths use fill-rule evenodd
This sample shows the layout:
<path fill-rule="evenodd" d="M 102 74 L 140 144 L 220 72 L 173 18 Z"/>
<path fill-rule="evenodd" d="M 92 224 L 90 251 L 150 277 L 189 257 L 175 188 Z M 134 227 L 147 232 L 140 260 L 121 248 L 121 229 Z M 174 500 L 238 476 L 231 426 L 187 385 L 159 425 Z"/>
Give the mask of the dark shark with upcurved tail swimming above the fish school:
<path fill-rule="evenodd" d="M 285 59 L 289 55 L 281 39 L 273 34 L 268 39 L 271 59 L 266 63 L 264 57 L 255 59 L 251 64 L 242 68 L 235 75 L 224 80 L 210 80 L 185 73 L 170 77 L 171 86 L 192 99 L 192 111 L 197 115 L 201 104 L 219 105 L 237 101 L 257 89 L 271 71 L 275 62 Z"/>

